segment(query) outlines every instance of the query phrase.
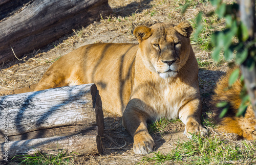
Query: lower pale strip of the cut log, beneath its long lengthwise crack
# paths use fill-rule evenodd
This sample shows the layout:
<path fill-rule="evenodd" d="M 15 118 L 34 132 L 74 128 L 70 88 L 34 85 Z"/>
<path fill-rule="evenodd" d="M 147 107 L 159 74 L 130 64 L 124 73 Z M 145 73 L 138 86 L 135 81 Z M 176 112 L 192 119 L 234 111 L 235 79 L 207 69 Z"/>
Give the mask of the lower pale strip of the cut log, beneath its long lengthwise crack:
<path fill-rule="evenodd" d="M 93 155 L 98 154 L 96 135 L 70 135 L 70 136 L 54 136 L 47 138 L 36 138 L 28 140 L 10 141 L 8 144 L 8 157 L 15 155 L 33 155 L 34 153 L 47 153 L 56 155 L 59 151 L 65 153 L 75 152 L 78 155 Z M 4 150 L 0 149 L 3 153 Z M 74 155 L 76 155 L 74 154 Z M 1 155 L 0 155 L 1 159 Z"/>

